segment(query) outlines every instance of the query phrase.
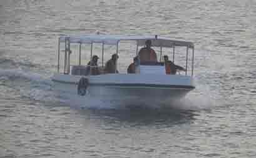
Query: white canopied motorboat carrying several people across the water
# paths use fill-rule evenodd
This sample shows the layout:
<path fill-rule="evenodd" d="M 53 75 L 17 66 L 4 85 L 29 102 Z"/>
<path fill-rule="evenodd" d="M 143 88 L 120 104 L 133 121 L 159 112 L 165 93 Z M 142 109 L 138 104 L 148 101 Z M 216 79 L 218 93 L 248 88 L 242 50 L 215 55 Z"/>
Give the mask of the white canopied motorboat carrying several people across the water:
<path fill-rule="evenodd" d="M 90 67 L 82 64 L 81 56 L 84 53 L 81 48 L 84 45 L 90 46 L 90 58 L 95 54 L 93 46 L 101 45 L 101 51 L 96 51 L 96 53 L 101 53 L 101 64 L 104 66 L 105 47 L 113 45 L 115 53 L 121 56 L 120 42 L 133 42 L 136 47 L 133 53 L 135 57 L 138 55 L 138 49 L 145 45 L 146 40 L 151 40 L 151 46 L 159 49 L 156 51 L 159 61 L 155 64 L 138 63 L 135 73 L 117 73 L 117 71 L 100 75 L 83 73 L 87 67 Z M 71 56 L 75 54 L 72 49 L 74 45 L 78 46 L 78 53 L 76 63 L 72 64 Z M 62 46 L 64 50 L 61 50 Z M 183 55 L 178 52 L 178 55 L 182 55 L 180 58 L 185 60 L 185 71 L 173 75 L 166 74 L 165 63 L 161 60 L 165 54 L 163 49 L 170 53 L 174 63 L 175 50 L 178 48 L 185 49 Z M 138 57 L 140 58 L 140 55 Z M 118 63 L 122 61 L 120 57 Z M 195 88 L 193 61 L 194 45 L 192 42 L 172 40 L 158 35 L 63 35 L 58 40 L 58 70 L 52 77 L 52 81 L 55 90 L 76 95 L 79 99 L 98 98 L 99 100 L 119 101 L 124 105 L 168 105 L 172 101 L 182 99 Z"/>

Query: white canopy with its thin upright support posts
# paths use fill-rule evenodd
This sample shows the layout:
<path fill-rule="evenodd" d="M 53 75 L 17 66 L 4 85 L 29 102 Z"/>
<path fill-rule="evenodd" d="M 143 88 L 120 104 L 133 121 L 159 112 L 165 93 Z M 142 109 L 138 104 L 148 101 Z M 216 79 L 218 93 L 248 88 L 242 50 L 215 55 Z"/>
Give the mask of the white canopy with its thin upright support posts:
<path fill-rule="evenodd" d="M 175 47 L 187 47 L 186 52 L 186 65 L 185 65 L 185 75 L 188 75 L 188 53 L 192 49 L 192 70 L 191 76 L 193 76 L 194 68 L 194 50 L 195 47 L 192 42 L 182 41 L 182 40 L 172 40 L 166 37 L 160 37 L 158 35 L 63 35 L 58 39 L 58 63 L 57 71 L 60 70 L 60 52 L 64 52 L 64 74 L 70 73 L 70 54 L 71 54 L 71 44 L 79 44 L 79 62 L 81 65 L 81 46 L 83 44 L 91 45 L 90 58 L 93 57 L 93 44 L 102 44 L 102 56 L 101 63 L 104 63 L 104 53 L 105 45 L 115 45 L 116 54 L 118 54 L 118 46 L 121 41 L 133 40 L 136 41 L 136 55 L 138 55 L 138 48 L 145 45 L 146 40 L 151 40 L 151 47 L 160 47 L 160 62 L 162 58 L 162 48 L 172 48 L 172 62 L 175 62 Z M 64 50 L 60 50 L 61 43 L 64 43 Z M 116 64 L 117 65 L 117 64 Z"/>

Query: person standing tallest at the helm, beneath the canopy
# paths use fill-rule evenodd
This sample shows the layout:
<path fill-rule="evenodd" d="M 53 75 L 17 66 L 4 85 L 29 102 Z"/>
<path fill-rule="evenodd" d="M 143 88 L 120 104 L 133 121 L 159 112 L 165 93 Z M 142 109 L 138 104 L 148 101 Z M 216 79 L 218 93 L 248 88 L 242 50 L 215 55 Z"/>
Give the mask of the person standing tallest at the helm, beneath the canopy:
<path fill-rule="evenodd" d="M 157 62 L 156 52 L 151 49 L 151 40 L 146 40 L 146 47 L 140 49 L 139 56 L 141 62 Z"/>

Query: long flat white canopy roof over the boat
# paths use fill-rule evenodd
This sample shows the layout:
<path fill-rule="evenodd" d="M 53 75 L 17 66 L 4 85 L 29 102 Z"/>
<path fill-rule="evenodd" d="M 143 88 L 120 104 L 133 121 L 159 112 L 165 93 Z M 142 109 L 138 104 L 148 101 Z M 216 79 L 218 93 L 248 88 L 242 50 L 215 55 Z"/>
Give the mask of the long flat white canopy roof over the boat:
<path fill-rule="evenodd" d="M 106 45 L 118 45 L 118 42 L 122 40 L 135 40 L 138 46 L 143 46 L 146 40 L 151 40 L 152 47 L 180 46 L 194 48 L 192 42 L 172 40 L 158 35 L 62 35 L 59 37 L 59 42 L 65 42 L 65 39 L 69 39 L 70 43 L 101 43 Z"/>

